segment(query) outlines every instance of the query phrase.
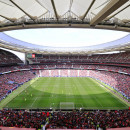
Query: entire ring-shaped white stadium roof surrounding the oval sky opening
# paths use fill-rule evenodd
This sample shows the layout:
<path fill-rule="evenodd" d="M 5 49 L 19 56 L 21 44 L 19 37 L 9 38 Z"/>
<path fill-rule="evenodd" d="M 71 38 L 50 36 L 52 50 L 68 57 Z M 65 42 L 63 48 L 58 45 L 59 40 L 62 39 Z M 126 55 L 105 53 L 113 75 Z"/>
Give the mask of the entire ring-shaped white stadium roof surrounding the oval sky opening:
<path fill-rule="evenodd" d="M 0 0 L 0 31 L 26 28 L 97 28 L 130 32 L 130 0 Z M 43 54 L 126 51 L 130 35 L 90 47 L 38 46 L 0 33 L 0 46 Z"/>

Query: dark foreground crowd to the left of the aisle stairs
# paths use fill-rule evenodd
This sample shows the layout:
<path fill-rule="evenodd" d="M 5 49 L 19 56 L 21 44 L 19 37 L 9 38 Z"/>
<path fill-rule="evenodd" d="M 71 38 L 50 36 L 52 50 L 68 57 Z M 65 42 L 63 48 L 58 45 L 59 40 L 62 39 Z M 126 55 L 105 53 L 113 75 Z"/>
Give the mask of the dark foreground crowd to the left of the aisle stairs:
<path fill-rule="evenodd" d="M 45 112 L 0 110 L 0 126 L 41 129 L 46 119 Z"/>

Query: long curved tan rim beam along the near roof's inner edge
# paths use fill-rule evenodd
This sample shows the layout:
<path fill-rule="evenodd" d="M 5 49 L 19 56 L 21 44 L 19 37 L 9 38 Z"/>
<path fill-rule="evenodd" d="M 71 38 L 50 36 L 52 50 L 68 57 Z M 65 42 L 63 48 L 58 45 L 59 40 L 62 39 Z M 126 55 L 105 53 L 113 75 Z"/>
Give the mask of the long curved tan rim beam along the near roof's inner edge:
<path fill-rule="evenodd" d="M 128 20 L 128 22 L 130 22 Z M 28 29 L 28 28 L 93 28 L 91 27 L 89 24 L 70 24 L 69 23 L 59 23 L 57 24 L 57 22 L 54 23 L 50 23 L 50 24 L 28 24 L 25 27 L 23 27 L 23 25 L 13 25 L 13 26 L 3 26 L 0 27 L 0 32 L 2 31 L 9 31 L 9 30 L 18 30 L 18 29 Z M 125 32 L 130 32 L 130 28 L 128 28 L 128 26 L 124 26 L 124 27 L 120 27 L 117 26 L 115 27 L 115 25 L 97 25 L 94 27 L 95 29 L 108 29 L 108 30 L 119 30 L 119 31 L 125 31 Z"/>

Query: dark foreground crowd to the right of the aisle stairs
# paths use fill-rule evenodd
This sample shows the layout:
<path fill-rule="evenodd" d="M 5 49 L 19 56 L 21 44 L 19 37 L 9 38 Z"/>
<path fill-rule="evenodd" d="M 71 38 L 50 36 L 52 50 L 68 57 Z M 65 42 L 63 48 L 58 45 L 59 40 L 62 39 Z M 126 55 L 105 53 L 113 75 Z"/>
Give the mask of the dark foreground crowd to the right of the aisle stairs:
<path fill-rule="evenodd" d="M 129 110 L 53 112 L 46 128 L 96 129 L 130 127 Z"/>

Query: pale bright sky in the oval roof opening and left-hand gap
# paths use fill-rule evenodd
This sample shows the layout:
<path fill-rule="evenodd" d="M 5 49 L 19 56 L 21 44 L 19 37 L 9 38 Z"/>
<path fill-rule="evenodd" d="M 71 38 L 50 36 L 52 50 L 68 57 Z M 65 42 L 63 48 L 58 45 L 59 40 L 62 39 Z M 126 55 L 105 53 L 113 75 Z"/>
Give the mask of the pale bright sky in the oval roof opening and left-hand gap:
<path fill-rule="evenodd" d="M 24 29 L 4 33 L 29 43 L 55 47 L 91 46 L 110 42 L 129 34 L 121 31 L 70 28 Z M 23 53 L 13 53 L 24 60 Z"/>

